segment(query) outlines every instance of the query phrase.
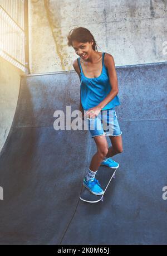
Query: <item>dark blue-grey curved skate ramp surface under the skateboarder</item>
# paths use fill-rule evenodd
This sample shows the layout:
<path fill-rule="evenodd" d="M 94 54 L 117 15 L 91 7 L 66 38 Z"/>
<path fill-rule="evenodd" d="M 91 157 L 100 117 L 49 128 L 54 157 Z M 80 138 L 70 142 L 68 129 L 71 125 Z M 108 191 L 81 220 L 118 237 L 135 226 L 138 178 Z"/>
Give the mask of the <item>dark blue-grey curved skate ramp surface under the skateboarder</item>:
<path fill-rule="evenodd" d="M 166 244 L 166 67 L 117 67 L 124 151 L 97 204 L 79 200 L 94 140 L 88 131 L 53 129 L 55 110 L 78 109 L 77 75 L 22 78 L 0 158 L 1 244 Z"/>

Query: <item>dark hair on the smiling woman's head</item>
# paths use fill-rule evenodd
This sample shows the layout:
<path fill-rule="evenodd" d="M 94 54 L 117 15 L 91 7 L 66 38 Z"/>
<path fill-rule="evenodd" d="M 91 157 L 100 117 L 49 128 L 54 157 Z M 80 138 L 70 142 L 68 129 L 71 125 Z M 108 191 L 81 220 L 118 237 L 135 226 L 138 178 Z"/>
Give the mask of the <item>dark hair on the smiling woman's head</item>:
<path fill-rule="evenodd" d="M 67 44 L 68 46 L 72 46 L 72 41 L 76 40 L 78 42 L 91 42 L 93 40 L 94 44 L 92 45 L 92 49 L 97 51 L 97 44 L 94 36 L 91 34 L 89 30 L 85 27 L 75 27 L 73 28 L 67 36 Z"/>

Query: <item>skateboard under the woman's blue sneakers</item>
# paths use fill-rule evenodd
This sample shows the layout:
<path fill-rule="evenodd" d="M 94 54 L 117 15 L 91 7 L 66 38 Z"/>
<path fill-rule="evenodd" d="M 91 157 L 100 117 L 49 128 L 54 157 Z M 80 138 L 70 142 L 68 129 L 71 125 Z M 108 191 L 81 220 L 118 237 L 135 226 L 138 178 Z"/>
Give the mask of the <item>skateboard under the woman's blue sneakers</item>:
<path fill-rule="evenodd" d="M 101 170 L 100 168 L 96 173 L 95 178 L 96 180 L 99 180 L 101 188 L 104 190 L 104 194 L 105 194 L 107 187 L 109 186 L 112 178 L 115 178 L 115 172 L 117 168 L 102 167 Z M 85 202 L 99 202 L 104 200 L 104 194 L 94 195 L 84 185 L 82 185 L 80 199 Z"/>

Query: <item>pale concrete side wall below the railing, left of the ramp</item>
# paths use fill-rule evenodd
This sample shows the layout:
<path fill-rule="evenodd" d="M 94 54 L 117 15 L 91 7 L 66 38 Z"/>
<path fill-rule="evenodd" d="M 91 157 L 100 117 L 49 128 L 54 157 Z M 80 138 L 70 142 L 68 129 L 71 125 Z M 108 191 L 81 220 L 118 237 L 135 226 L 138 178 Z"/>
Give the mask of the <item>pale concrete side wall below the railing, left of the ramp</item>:
<path fill-rule="evenodd" d="M 13 121 L 21 74 L 21 70 L 0 57 L 0 151 Z"/>

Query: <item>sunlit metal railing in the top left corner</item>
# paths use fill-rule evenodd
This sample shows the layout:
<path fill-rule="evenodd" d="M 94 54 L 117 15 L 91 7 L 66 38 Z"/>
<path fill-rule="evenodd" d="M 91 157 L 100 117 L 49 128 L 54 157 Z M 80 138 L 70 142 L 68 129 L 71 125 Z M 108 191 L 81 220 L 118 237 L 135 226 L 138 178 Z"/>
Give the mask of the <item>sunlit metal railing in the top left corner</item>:
<path fill-rule="evenodd" d="M 0 56 L 30 74 L 27 0 L 0 0 Z"/>

